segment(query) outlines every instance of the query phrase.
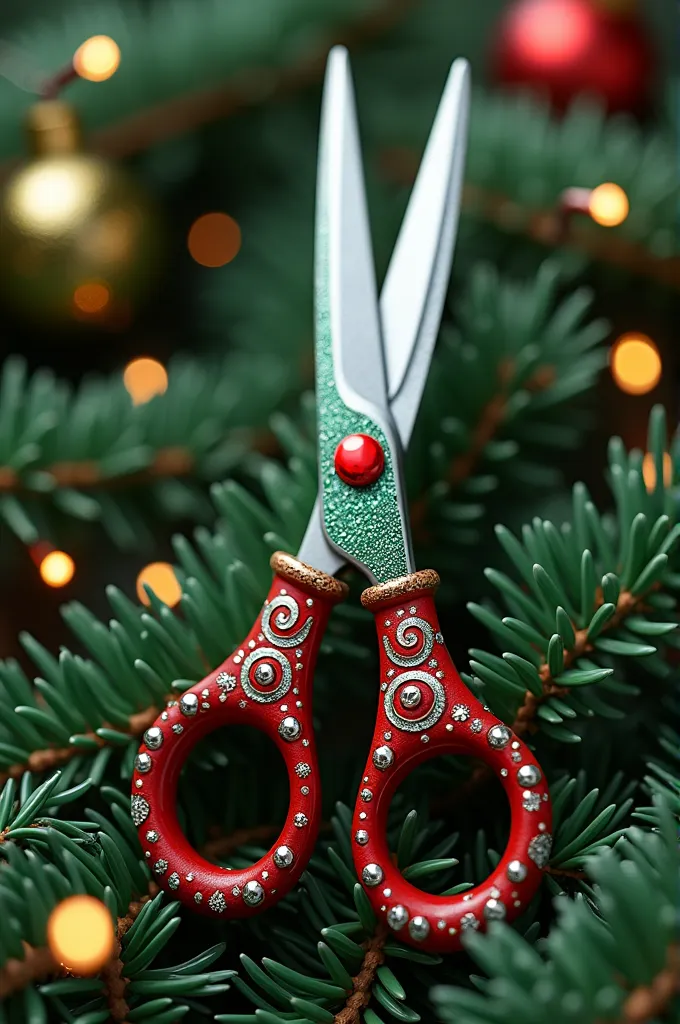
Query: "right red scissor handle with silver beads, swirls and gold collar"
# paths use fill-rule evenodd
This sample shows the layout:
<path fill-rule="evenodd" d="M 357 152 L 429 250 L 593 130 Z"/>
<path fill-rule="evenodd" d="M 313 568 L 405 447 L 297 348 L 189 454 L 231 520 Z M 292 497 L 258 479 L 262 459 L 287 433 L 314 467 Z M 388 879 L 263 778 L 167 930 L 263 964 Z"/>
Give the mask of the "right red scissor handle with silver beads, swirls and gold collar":
<path fill-rule="evenodd" d="M 411 945 L 461 948 L 466 929 L 515 918 L 541 882 L 551 849 L 548 787 L 536 758 L 461 680 L 434 607 L 436 572 L 426 569 L 371 587 L 380 644 L 376 729 L 354 808 L 354 865 L 373 909 Z M 477 758 L 494 770 L 510 802 L 510 838 L 497 867 L 466 893 L 432 896 L 407 882 L 387 845 L 394 791 L 416 765 L 440 754 Z"/>

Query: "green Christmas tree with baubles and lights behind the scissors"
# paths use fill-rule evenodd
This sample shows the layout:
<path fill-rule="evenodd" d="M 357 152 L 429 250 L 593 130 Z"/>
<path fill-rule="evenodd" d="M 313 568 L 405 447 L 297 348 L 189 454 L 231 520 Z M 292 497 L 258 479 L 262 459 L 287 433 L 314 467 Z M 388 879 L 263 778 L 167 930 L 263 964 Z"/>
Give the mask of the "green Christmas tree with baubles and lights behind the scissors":
<path fill-rule="evenodd" d="M 668 12 L 477 6 L 3 14 L 0 285 L 23 354 L 0 380 L 2 1022 L 680 1022 Z M 536 753 L 553 825 L 537 895 L 448 955 L 387 929 L 353 866 L 380 696 L 357 573 L 314 674 L 323 821 L 294 891 L 198 916 L 130 816 L 144 733 L 239 649 L 316 497 L 314 181 L 336 42 L 379 280 L 448 69 L 473 71 L 407 488 L 454 660 Z M 279 753 L 240 726 L 207 735 L 178 787 L 186 838 L 226 868 L 269 849 L 289 799 Z M 388 822 L 405 879 L 444 895 L 487 878 L 508 830 L 493 775 L 456 757 L 420 765 Z"/>

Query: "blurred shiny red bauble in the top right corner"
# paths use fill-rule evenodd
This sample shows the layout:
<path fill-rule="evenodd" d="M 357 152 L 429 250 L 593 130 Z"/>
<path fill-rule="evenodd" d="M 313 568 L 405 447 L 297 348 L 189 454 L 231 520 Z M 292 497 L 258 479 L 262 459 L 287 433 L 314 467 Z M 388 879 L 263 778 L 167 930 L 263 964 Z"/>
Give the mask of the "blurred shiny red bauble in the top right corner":
<path fill-rule="evenodd" d="M 492 52 L 502 85 L 547 93 L 564 110 L 580 93 L 609 111 L 643 111 L 653 54 L 639 17 L 602 0 L 516 0 L 501 18 Z"/>

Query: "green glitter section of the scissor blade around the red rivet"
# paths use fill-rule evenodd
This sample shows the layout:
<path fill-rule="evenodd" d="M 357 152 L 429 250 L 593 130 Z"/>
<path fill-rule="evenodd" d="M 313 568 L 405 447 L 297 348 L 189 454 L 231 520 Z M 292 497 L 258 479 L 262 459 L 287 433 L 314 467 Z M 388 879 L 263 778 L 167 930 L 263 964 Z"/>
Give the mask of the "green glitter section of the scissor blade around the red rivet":
<path fill-rule="evenodd" d="M 394 466 L 387 438 L 363 413 L 348 409 L 335 384 L 329 304 L 328 223 L 320 197 L 316 211 L 316 402 L 318 461 L 324 495 L 324 522 L 331 540 L 366 565 L 378 583 L 409 572 L 403 547 Z M 335 472 L 335 451 L 347 434 L 370 434 L 382 445 L 385 469 L 375 483 L 352 487 Z"/>

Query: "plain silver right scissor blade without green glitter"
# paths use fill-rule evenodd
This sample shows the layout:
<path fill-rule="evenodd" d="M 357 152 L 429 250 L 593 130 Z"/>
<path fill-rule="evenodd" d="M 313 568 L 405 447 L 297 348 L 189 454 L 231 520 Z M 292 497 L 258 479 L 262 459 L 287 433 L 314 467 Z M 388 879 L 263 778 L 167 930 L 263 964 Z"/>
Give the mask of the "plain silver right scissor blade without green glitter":
<path fill-rule="evenodd" d="M 454 61 L 380 296 L 387 391 L 406 451 L 451 274 L 463 188 L 470 67 Z"/>

